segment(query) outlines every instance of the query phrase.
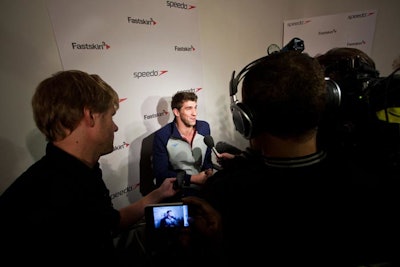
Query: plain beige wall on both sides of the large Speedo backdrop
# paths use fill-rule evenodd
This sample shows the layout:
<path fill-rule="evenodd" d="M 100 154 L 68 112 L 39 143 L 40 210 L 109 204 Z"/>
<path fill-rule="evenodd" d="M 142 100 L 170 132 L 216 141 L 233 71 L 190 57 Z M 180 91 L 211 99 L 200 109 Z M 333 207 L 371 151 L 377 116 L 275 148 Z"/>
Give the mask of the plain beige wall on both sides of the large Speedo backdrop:
<path fill-rule="evenodd" d="M 186 1 L 190 2 L 190 1 Z M 202 0 L 200 38 L 206 118 L 215 142 L 244 148 L 233 130 L 228 82 L 232 71 L 282 45 L 283 21 L 351 11 L 378 10 L 371 57 L 388 75 L 400 51 L 397 0 Z M 32 120 L 30 100 L 36 85 L 62 69 L 45 0 L 0 1 L 0 193 L 44 154 L 44 137 Z M 307 44 L 306 44 L 307 45 Z M 210 90 L 211 91 L 211 90 Z"/>

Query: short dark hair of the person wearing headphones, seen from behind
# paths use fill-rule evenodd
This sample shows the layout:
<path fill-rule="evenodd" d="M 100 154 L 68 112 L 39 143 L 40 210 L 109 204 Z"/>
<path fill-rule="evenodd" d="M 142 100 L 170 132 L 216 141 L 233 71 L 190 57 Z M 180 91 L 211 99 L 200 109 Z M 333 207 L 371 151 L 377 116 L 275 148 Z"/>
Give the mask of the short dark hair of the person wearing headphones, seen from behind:
<path fill-rule="evenodd" d="M 256 116 L 258 132 L 299 137 L 318 126 L 326 105 L 323 68 L 306 53 L 274 53 L 255 64 L 242 85 L 242 101 Z"/>

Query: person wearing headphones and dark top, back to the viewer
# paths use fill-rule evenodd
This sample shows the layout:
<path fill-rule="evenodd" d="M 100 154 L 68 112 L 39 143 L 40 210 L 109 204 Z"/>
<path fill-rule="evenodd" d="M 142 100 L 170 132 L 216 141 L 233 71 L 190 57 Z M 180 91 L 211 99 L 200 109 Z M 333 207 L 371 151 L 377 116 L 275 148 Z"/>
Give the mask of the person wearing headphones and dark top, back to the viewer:
<path fill-rule="evenodd" d="M 317 59 L 299 51 L 276 52 L 233 73 L 233 120 L 250 147 L 202 190 L 222 216 L 224 266 L 394 261 L 394 194 L 353 181 L 358 173 L 342 157 L 317 146 L 326 84 Z"/>

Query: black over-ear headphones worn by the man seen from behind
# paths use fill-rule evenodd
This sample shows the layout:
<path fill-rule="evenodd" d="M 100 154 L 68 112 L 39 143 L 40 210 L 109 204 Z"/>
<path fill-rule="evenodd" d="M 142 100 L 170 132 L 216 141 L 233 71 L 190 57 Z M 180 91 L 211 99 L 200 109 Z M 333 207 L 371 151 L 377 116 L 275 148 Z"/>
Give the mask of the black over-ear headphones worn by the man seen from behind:
<path fill-rule="evenodd" d="M 246 139 L 252 138 L 257 132 L 257 114 L 249 106 L 239 102 L 237 99 L 236 94 L 238 91 L 238 85 L 241 80 L 246 77 L 246 73 L 253 66 L 257 65 L 261 61 L 266 60 L 267 58 L 268 55 L 250 62 L 236 76 L 236 72 L 233 71 L 231 80 L 229 82 L 229 95 L 231 99 L 230 109 L 233 123 L 236 131 L 238 131 Z M 328 77 L 325 77 L 325 81 L 327 89 L 327 108 L 338 108 L 341 102 L 341 91 L 339 85 Z"/>

